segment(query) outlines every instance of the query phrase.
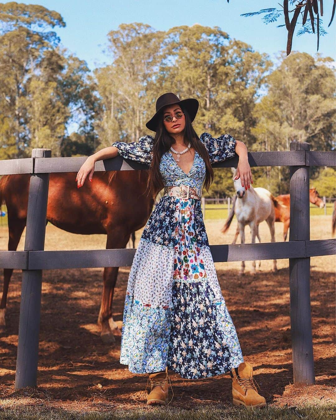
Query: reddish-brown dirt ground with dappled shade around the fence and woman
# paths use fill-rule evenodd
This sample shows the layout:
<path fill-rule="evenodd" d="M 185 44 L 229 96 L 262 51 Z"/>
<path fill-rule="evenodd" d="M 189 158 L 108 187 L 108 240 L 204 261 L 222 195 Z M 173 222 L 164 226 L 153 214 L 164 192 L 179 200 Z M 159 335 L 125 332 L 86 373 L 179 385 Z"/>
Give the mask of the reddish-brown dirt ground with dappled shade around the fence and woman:
<path fill-rule="evenodd" d="M 231 243 L 236 222 L 226 236 L 218 234 L 222 222 L 206 220 L 210 244 Z M 311 239 L 331 238 L 331 217 L 311 217 Z M 246 231 L 248 228 L 246 229 Z M 136 233 L 136 246 L 142 230 Z M 276 223 L 281 241 L 282 223 Z M 265 222 L 262 241 L 270 241 Z M 0 229 L 0 248 L 7 249 L 8 231 Z M 48 224 L 45 249 L 103 249 L 103 235 L 74 235 Z M 249 234 L 247 234 L 249 241 Z M 18 250 L 24 246 L 24 235 Z M 216 263 L 223 295 L 236 326 L 244 359 L 273 406 L 335 402 L 335 257 L 311 258 L 311 310 L 316 385 L 294 388 L 289 318 L 289 262 L 262 261 L 260 271 L 238 273 L 239 262 Z M 121 328 L 129 268 L 120 268 L 114 297 L 114 319 Z M 120 337 L 103 344 L 97 317 L 102 292 L 102 269 L 45 270 L 39 341 L 38 387 L 14 391 L 21 270 L 14 270 L 10 285 L 5 332 L 0 334 L 0 404 L 3 407 L 43 405 L 68 410 L 110 410 L 143 407 L 146 375 L 134 375 L 119 363 Z M 199 381 L 171 373 L 171 406 L 231 405 L 228 374 Z"/>

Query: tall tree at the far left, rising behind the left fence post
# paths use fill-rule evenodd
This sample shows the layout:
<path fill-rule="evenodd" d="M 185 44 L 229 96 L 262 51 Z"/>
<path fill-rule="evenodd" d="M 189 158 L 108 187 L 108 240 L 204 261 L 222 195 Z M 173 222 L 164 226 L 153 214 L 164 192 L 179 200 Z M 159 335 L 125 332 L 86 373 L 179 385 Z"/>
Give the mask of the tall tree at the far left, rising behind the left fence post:
<path fill-rule="evenodd" d="M 58 47 L 51 29 L 65 26 L 59 13 L 39 5 L 1 3 L 0 23 L 0 113 L 7 127 L 1 130 L 3 154 L 26 157 L 33 147 L 50 147 L 57 156 L 68 122 L 77 114 L 86 125 L 92 121 L 89 69 Z M 13 138 L 15 149 L 9 149 L 6 143 Z"/>

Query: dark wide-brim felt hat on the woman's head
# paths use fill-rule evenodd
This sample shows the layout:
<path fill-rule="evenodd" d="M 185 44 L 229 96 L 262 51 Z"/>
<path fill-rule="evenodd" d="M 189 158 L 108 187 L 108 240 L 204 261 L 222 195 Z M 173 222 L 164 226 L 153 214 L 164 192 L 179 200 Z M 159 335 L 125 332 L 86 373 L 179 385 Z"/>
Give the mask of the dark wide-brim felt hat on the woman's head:
<path fill-rule="evenodd" d="M 180 104 L 188 113 L 190 117 L 190 121 L 194 121 L 197 110 L 198 110 L 198 100 L 194 98 L 188 98 L 180 100 L 179 97 L 177 97 L 173 93 L 164 93 L 160 97 L 157 98 L 156 101 L 156 113 L 152 116 L 150 121 L 146 123 L 147 129 L 150 129 L 152 131 L 157 130 L 157 124 L 159 122 L 160 118 L 160 111 L 162 111 L 162 108 L 164 108 L 167 105 L 173 105 L 173 104 Z"/>

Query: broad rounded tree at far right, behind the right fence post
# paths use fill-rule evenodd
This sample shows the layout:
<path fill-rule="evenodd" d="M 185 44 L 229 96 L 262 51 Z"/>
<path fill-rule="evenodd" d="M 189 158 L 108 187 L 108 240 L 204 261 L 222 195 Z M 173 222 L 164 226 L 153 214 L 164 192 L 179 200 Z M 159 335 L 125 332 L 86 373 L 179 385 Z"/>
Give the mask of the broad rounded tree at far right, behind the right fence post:
<path fill-rule="evenodd" d="M 256 103 L 257 124 L 252 133 L 258 139 L 251 150 L 289 150 L 293 141 L 309 142 L 312 150 L 335 147 L 335 74 L 325 64 L 331 58 L 313 58 L 295 53 L 285 58 L 266 78 L 268 95 Z M 311 168 L 311 176 L 319 168 Z M 273 194 L 289 189 L 289 171 L 282 167 L 255 170 L 258 186 Z"/>

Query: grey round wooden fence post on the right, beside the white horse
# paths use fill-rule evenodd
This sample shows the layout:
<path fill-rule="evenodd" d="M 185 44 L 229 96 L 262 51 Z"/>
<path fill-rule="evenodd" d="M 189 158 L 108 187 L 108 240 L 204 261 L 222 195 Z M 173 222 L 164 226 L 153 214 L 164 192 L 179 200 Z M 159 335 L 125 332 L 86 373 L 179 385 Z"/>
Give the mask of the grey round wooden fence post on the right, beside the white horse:
<path fill-rule="evenodd" d="M 310 150 L 310 144 L 291 142 L 290 150 Z M 309 166 L 291 166 L 289 240 L 309 239 Z M 289 258 L 291 341 L 296 387 L 315 383 L 309 277 L 309 257 Z"/>

